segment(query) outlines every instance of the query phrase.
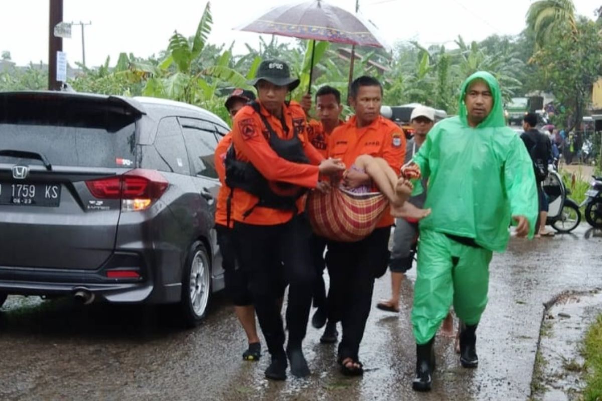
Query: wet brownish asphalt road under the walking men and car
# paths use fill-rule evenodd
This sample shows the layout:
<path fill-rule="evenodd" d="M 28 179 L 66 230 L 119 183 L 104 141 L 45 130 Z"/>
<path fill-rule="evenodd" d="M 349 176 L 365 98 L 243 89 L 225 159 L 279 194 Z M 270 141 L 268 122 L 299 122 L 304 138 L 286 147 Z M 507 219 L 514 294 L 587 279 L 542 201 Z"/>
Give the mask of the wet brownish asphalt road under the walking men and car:
<path fill-rule="evenodd" d="M 543 302 L 563 290 L 602 287 L 602 234 L 588 228 L 512 239 L 507 253 L 494 256 L 489 305 L 477 330 L 479 367 L 462 369 L 453 339 L 439 336 L 429 394 L 411 389 L 412 269 L 402 312 L 370 314 L 362 378 L 342 376 L 336 346 L 320 344 L 320 331 L 310 327 L 305 351 L 312 375 L 266 381 L 267 355 L 259 363 L 241 360 L 246 340 L 223 296 L 190 331 L 152 308 L 9 297 L 0 314 L 0 400 L 526 400 Z M 387 274 L 377 281 L 373 304 L 388 295 Z"/>

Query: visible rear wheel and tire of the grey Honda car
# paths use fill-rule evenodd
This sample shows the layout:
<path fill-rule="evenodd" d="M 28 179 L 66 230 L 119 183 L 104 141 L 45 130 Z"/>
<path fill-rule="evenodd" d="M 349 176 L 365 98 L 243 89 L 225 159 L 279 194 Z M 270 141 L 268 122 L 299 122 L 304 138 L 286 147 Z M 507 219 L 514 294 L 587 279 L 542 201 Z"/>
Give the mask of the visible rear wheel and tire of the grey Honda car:
<path fill-rule="evenodd" d="M 211 262 L 201 242 L 194 242 L 182 269 L 182 298 L 180 311 L 182 323 L 193 328 L 205 317 L 211 300 Z"/>

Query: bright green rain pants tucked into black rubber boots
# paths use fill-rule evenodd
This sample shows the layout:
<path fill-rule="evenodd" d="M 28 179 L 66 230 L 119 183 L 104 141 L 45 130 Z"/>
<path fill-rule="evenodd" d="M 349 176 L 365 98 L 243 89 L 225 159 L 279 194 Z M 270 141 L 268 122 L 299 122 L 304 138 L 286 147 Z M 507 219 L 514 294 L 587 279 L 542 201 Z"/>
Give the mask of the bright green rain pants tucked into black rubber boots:
<path fill-rule="evenodd" d="M 426 344 L 453 306 L 467 325 L 479 323 L 487 305 L 492 251 L 463 245 L 432 230 L 420 231 L 412 327 Z"/>

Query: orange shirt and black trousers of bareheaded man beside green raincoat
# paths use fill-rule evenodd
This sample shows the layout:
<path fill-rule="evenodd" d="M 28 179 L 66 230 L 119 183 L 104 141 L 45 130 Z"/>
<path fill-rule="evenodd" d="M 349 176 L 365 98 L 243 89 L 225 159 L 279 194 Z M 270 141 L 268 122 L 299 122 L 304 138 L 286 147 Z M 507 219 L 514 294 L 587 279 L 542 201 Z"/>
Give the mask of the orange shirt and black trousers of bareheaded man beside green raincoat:
<path fill-rule="evenodd" d="M 358 128 L 353 117 L 330 135 L 328 156 L 343 159 L 350 168 L 360 155 L 385 159 L 400 173 L 406 152 L 405 135 L 397 124 L 378 117 L 370 125 Z M 358 242 L 328 242 L 326 264 L 330 275 L 329 309 L 343 325 L 338 348 L 341 360 L 358 360 L 359 343 L 374 289 L 374 279 L 382 276 L 389 261 L 389 235 L 393 216 L 387 211 L 370 236 Z"/>

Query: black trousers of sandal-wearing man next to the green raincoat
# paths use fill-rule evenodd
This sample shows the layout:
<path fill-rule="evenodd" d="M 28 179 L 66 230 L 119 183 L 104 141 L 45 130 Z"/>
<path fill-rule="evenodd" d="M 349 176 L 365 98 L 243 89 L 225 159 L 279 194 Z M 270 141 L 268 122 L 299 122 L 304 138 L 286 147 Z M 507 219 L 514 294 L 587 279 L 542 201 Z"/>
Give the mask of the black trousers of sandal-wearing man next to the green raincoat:
<path fill-rule="evenodd" d="M 370 314 L 374 279 L 386 272 L 391 228 L 377 228 L 358 242 L 328 242 L 326 265 L 330 274 L 329 311 L 343 325 L 338 347 L 340 359 L 358 360 Z"/>

